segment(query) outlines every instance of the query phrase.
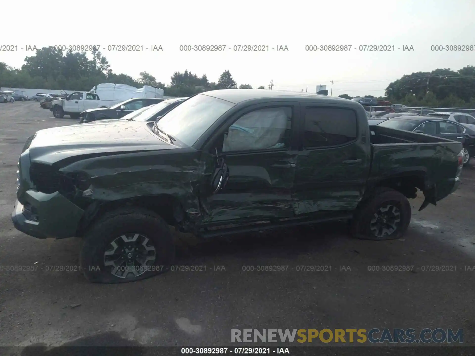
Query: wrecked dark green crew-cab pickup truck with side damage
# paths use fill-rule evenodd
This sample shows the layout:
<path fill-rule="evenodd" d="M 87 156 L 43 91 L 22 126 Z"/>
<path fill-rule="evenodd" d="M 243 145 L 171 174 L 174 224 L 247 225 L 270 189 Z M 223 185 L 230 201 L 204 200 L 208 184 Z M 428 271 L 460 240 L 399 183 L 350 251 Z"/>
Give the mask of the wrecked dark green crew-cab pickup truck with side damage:
<path fill-rule="evenodd" d="M 158 122 L 36 132 L 19 158 L 15 227 L 82 237 L 92 282 L 165 272 L 171 227 L 198 237 L 350 220 L 358 238 L 399 238 L 456 190 L 462 144 L 369 126 L 351 100 L 231 89 L 197 94 Z"/>

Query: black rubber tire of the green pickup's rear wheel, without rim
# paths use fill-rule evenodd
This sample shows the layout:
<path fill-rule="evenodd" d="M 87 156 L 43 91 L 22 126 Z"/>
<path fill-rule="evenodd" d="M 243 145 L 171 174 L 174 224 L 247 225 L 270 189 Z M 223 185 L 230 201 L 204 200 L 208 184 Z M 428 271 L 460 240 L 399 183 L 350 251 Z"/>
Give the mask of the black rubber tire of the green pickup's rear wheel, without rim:
<path fill-rule="evenodd" d="M 380 208 L 395 206 L 399 210 L 397 228 L 389 235 L 377 236 L 371 230 L 371 220 Z M 411 206 L 407 197 L 390 188 L 378 188 L 356 208 L 350 224 L 353 237 L 364 240 L 394 240 L 404 235 L 411 221 Z"/>

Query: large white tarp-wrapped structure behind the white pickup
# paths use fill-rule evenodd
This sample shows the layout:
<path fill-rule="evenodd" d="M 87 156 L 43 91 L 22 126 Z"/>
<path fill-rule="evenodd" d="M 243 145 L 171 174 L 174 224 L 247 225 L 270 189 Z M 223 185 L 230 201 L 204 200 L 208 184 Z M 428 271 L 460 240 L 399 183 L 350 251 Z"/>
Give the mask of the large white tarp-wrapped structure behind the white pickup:
<path fill-rule="evenodd" d="M 91 89 L 101 100 L 124 101 L 131 98 L 163 98 L 163 89 L 152 85 L 136 88 L 127 84 L 102 83 Z"/>

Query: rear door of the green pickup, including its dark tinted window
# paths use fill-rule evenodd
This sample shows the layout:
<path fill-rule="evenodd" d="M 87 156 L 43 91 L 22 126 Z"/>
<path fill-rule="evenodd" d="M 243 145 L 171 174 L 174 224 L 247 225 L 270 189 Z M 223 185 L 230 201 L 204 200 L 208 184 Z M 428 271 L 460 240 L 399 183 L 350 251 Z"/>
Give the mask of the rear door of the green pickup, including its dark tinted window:
<path fill-rule="evenodd" d="M 356 208 L 370 169 L 367 132 L 350 108 L 302 104 L 295 214 L 338 213 Z"/>

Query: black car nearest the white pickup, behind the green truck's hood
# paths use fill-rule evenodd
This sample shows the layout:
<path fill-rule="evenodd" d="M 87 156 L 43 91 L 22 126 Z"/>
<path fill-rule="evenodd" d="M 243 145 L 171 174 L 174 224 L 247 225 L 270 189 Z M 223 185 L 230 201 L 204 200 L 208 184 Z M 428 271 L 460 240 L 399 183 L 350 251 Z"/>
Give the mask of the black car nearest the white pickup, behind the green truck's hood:
<path fill-rule="evenodd" d="M 120 119 L 137 109 L 157 104 L 164 100 L 163 98 L 133 98 L 117 103 L 110 108 L 87 109 L 79 114 L 79 123 L 104 119 Z"/>

